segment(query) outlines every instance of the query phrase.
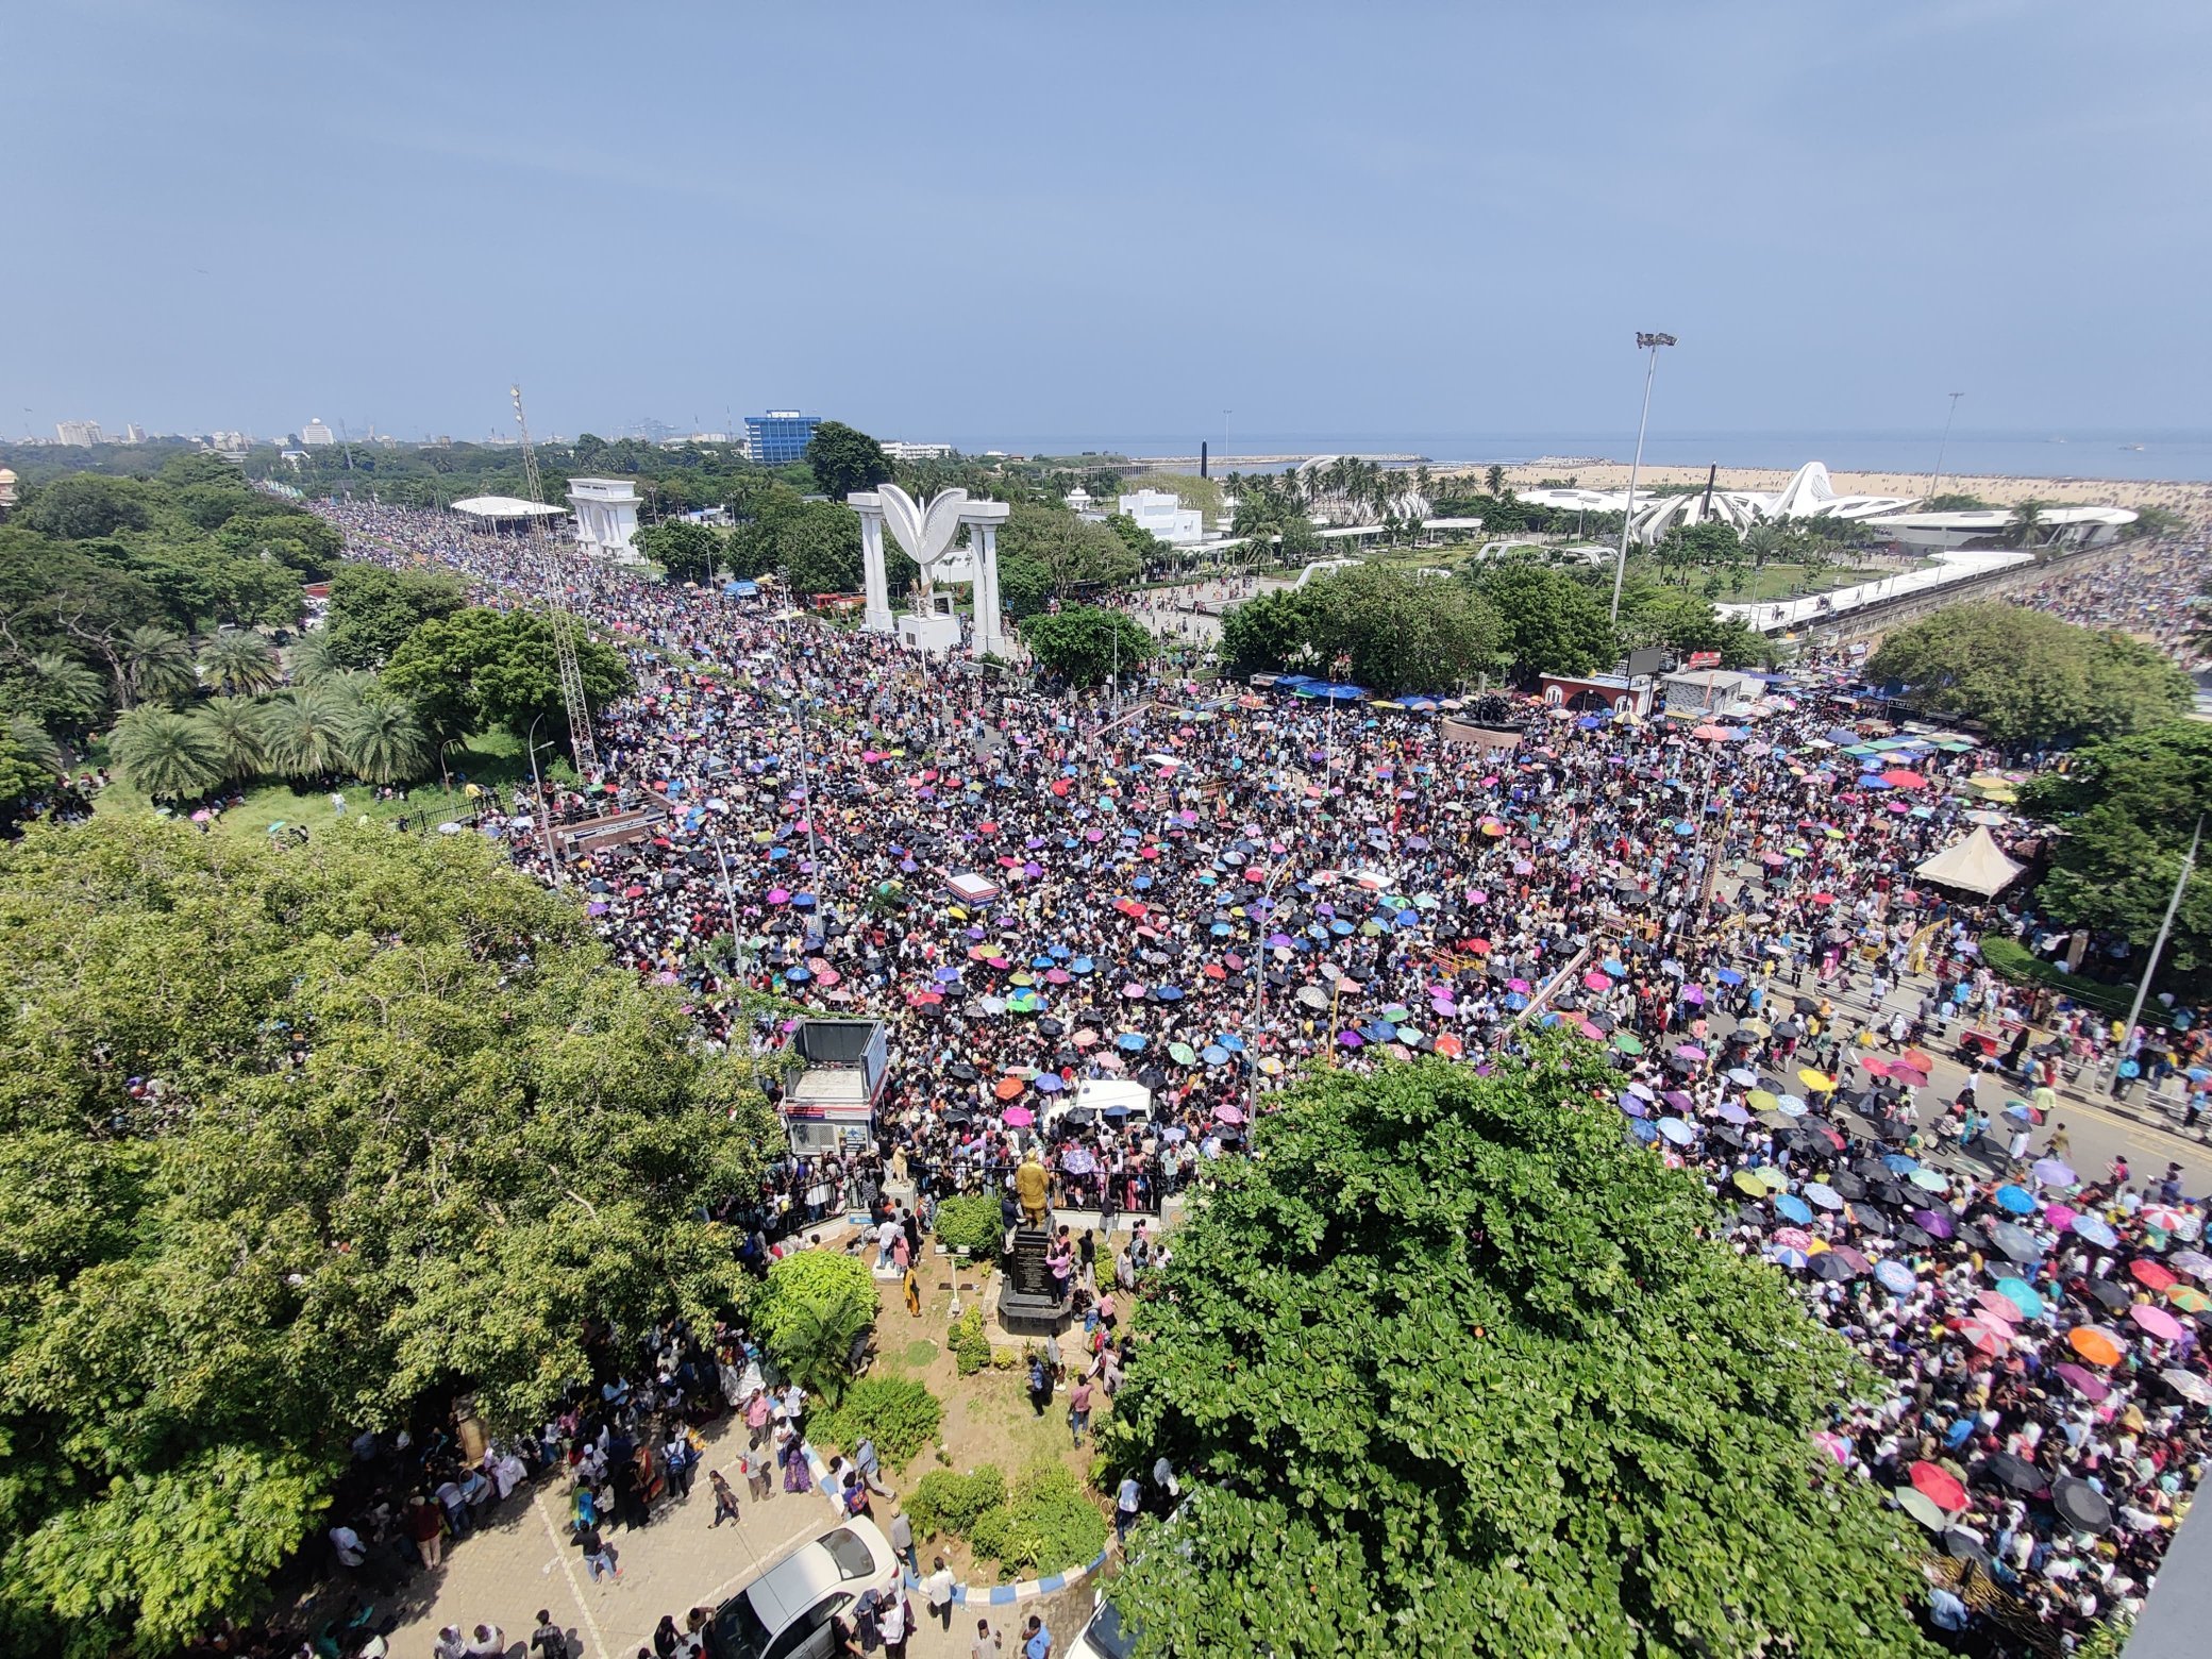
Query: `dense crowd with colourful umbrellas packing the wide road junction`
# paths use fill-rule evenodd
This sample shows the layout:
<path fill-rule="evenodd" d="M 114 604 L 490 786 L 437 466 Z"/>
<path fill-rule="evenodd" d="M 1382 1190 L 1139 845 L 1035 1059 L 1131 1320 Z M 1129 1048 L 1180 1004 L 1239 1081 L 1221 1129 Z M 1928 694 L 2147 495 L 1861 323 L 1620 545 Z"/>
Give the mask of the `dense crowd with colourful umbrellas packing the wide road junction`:
<path fill-rule="evenodd" d="M 535 591 L 513 544 L 330 511 L 356 555 Z M 1484 757 L 1416 708 L 925 672 L 613 571 L 580 571 L 575 602 L 641 690 L 599 710 L 606 772 L 557 812 L 670 821 L 564 878 L 712 1042 L 781 1042 L 761 993 L 887 1020 L 880 1130 L 925 1192 L 993 1190 L 1048 1119 L 1062 1201 L 1155 1208 L 1316 1066 L 1480 1066 L 1566 1024 L 1613 1051 L 1624 1133 L 1701 1170 L 1736 1248 L 1889 1378 L 1823 1444 L 1973 1564 L 1966 1590 L 2055 1628 L 2141 1597 L 2205 1451 L 2201 1212 L 2051 1161 L 1938 1168 L 1927 1066 L 1838 1077 L 1812 1031 L 1854 960 L 1964 949 L 1980 918 L 1911 872 L 1995 816 L 2017 781 L 1995 757 L 1809 688 L 1754 721 L 1540 710 Z M 1993 987 L 1969 964 L 1958 995 Z M 1150 1088 L 1150 1121 L 1062 1110 L 1097 1079 Z M 823 1183 L 794 1161 L 772 1186 L 803 1214 Z"/>

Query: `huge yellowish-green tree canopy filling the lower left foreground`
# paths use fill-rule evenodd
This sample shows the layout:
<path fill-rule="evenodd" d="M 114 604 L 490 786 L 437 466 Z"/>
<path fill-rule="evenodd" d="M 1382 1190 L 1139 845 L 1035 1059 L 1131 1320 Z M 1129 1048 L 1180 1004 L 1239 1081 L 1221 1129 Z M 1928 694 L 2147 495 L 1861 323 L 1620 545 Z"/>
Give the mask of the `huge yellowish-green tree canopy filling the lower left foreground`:
<path fill-rule="evenodd" d="M 246 1615 L 361 1427 L 533 1422 L 741 1294 L 765 1099 L 476 836 L 35 825 L 0 1002 L 11 1655 Z"/>

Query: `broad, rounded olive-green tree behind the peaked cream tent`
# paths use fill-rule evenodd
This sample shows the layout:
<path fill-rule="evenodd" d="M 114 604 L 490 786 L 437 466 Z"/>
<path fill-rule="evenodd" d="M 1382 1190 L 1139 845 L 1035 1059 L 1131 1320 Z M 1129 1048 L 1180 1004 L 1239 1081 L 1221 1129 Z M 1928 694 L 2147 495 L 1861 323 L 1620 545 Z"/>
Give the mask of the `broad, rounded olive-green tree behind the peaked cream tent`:
<path fill-rule="evenodd" d="M 2190 712 L 2190 677 L 2121 633 L 2004 599 L 1953 604 L 1889 635 L 1867 675 L 2000 743 L 2126 737 Z"/>

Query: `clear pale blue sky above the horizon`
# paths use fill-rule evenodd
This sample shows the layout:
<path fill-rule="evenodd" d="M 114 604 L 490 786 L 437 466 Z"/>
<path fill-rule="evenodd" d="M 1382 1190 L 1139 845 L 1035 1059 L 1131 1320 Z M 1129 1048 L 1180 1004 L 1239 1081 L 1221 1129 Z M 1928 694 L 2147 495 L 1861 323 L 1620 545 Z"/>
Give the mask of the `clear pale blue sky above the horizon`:
<path fill-rule="evenodd" d="M 2212 4 L 18 7 L 0 431 L 2205 427 Z M 31 414 L 24 416 L 22 409 Z"/>

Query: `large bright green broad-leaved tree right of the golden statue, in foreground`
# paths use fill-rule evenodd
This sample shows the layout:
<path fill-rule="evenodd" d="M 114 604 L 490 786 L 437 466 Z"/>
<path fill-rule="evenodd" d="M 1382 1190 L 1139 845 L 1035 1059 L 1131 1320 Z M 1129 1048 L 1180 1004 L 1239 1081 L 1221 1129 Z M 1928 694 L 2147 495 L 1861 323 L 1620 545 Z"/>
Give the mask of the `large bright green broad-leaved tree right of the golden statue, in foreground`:
<path fill-rule="evenodd" d="M 1812 1442 L 1871 1374 L 1615 1084 L 1548 1037 L 1327 1073 L 1219 1166 L 1108 1427 L 1190 1493 L 1108 1590 L 1146 1650 L 1931 1652 L 1911 1540 Z"/>

